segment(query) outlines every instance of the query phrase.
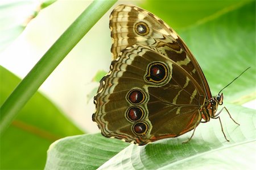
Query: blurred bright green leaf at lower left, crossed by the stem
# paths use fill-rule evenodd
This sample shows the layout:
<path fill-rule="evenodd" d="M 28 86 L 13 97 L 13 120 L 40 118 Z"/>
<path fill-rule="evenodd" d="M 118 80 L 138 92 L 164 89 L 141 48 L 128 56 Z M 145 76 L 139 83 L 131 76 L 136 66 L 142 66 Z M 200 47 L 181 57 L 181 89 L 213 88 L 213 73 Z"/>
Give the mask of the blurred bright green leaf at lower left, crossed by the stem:
<path fill-rule="evenodd" d="M 1 66 L 0 75 L 2 104 L 20 79 Z M 51 101 L 36 92 L 1 136 L 0 169 L 42 169 L 52 142 L 83 133 Z"/>

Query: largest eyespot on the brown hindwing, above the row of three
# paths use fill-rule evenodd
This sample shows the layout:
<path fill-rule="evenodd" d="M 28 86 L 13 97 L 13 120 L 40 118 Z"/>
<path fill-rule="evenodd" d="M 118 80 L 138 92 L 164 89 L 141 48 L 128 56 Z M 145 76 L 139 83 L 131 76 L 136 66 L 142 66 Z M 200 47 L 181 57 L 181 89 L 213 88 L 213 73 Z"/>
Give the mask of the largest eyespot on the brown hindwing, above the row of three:
<path fill-rule="evenodd" d="M 167 73 L 167 67 L 163 63 L 151 63 L 148 67 L 146 80 L 155 83 L 163 82 L 167 78 Z"/>

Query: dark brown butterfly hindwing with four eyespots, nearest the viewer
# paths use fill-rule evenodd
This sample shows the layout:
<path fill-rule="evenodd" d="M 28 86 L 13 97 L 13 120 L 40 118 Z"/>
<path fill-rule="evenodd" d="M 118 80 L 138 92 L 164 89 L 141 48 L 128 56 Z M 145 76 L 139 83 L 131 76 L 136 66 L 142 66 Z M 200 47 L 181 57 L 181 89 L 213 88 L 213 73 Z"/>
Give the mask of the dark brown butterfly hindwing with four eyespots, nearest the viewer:
<path fill-rule="evenodd" d="M 200 85 L 175 61 L 133 45 L 102 78 L 93 121 L 104 136 L 143 145 L 192 130 L 204 99 Z"/>

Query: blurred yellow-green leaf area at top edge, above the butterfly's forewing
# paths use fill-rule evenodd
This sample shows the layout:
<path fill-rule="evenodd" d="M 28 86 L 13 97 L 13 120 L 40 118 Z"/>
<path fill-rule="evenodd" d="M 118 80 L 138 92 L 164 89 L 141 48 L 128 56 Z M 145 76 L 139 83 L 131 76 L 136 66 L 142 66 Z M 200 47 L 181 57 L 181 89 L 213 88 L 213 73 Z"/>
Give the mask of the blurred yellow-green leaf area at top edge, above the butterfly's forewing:
<path fill-rule="evenodd" d="M 159 0 L 160 1 L 160 0 Z M 186 28 L 201 20 L 210 18 L 216 14 L 221 14 L 234 7 L 241 6 L 250 0 L 233 0 L 233 1 L 144 1 L 139 3 L 141 7 L 156 14 L 165 22 L 170 23 L 175 30 Z"/>

